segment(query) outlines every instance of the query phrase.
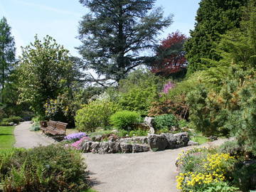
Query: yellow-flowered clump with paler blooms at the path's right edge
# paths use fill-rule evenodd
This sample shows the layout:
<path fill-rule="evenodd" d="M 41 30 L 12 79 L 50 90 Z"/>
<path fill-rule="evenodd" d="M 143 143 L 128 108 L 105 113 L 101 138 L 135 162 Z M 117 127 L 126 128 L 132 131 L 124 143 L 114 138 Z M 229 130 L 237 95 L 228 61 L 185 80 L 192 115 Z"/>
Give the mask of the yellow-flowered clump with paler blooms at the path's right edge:
<path fill-rule="evenodd" d="M 196 154 L 196 158 L 193 154 Z M 186 171 L 183 169 L 183 172 L 176 177 L 177 188 L 184 192 L 203 191 L 212 185 L 226 182 L 230 179 L 228 170 L 235 164 L 235 158 L 230 154 L 210 154 L 208 149 L 192 149 L 183 152 L 177 160 L 178 166 L 187 167 Z M 196 164 L 193 164 L 193 161 L 196 161 Z M 236 189 L 233 188 L 233 190 Z"/>

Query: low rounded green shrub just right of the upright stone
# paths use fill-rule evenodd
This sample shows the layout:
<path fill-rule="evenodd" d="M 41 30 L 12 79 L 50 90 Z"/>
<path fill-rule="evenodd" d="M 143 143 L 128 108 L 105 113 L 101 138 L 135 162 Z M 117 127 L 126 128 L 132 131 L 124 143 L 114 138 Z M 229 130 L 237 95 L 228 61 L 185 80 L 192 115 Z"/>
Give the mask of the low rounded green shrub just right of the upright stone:
<path fill-rule="evenodd" d="M 162 114 L 156 116 L 153 121 L 154 129 L 171 128 L 172 126 L 178 126 L 178 120 L 174 114 Z"/>

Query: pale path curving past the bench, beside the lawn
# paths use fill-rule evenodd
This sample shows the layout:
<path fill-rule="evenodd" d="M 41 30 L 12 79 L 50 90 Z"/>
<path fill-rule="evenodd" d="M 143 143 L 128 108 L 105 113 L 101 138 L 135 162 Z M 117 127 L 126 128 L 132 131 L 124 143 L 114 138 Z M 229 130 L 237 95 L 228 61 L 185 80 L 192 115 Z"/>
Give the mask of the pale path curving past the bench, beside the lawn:
<path fill-rule="evenodd" d="M 16 139 L 15 147 L 23 147 L 23 148 L 33 148 L 38 145 L 49 145 L 55 143 L 55 140 L 46 137 L 41 134 L 41 132 L 31 132 L 29 128 L 31 127 L 30 122 L 21 122 L 14 129 L 14 136 Z"/>

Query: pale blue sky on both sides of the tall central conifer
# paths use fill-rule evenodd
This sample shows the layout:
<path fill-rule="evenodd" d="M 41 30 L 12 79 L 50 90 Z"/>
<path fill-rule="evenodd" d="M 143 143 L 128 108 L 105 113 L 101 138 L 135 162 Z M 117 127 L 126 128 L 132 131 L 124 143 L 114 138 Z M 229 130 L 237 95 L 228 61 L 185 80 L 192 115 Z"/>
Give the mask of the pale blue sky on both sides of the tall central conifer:
<path fill-rule="evenodd" d="M 164 9 L 164 14 L 174 14 L 174 23 L 164 30 L 159 38 L 176 30 L 189 35 L 193 29 L 196 11 L 200 0 L 156 0 L 156 6 Z M 0 0 L 0 17 L 5 16 L 11 26 L 16 41 L 17 55 L 21 46 L 27 46 L 46 35 L 52 36 L 58 43 L 78 56 L 75 47 L 80 45 L 78 22 L 87 13 L 78 0 Z"/>

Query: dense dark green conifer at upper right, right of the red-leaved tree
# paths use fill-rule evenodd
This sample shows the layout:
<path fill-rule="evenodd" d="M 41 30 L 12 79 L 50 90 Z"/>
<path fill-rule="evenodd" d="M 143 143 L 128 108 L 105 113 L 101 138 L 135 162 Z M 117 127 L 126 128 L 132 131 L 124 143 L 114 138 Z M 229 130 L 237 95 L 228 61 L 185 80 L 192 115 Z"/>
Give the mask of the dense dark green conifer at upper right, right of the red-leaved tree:
<path fill-rule="evenodd" d="M 202 0 L 197 11 L 195 29 L 186 42 L 188 74 L 213 67 L 206 60 L 219 60 L 215 47 L 220 35 L 239 27 L 242 6 L 247 0 Z"/>

